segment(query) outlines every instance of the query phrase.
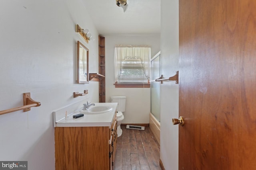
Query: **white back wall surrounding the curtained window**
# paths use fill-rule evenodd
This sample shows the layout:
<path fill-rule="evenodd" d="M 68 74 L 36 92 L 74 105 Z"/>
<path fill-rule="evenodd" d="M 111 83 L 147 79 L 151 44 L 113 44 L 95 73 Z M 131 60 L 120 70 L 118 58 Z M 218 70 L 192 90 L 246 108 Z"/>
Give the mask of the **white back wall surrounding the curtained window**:
<path fill-rule="evenodd" d="M 160 35 L 107 35 L 106 55 L 106 102 L 110 96 L 126 96 L 126 111 L 122 123 L 149 123 L 150 88 L 115 88 L 114 47 L 123 45 L 149 45 L 151 56 L 160 51 Z"/>

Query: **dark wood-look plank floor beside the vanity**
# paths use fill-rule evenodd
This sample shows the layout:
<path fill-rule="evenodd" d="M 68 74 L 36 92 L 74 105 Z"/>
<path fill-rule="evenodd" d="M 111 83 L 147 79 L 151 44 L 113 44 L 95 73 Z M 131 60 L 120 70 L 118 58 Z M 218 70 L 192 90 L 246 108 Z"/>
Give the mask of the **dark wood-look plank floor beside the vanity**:
<path fill-rule="evenodd" d="M 117 139 L 114 170 L 161 170 L 160 145 L 149 127 L 145 131 L 126 129 Z"/>

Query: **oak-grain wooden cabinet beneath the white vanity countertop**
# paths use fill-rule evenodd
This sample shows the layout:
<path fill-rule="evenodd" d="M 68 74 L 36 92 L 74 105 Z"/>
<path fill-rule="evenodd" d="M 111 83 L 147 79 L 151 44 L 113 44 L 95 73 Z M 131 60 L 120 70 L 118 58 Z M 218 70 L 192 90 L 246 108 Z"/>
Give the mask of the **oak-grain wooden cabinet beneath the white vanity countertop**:
<path fill-rule="evenodd" d="M 113 170 L 116 116 L 110 127 L 55 127 L 56 170 Z"/>

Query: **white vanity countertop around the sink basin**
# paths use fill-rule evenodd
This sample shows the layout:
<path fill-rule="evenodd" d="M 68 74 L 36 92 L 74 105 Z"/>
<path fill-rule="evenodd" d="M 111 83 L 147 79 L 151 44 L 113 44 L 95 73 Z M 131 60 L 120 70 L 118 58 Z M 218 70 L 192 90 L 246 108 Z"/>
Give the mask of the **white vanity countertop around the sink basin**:
<path fill-rule="evenodd" d="M 68 115 L 68 120 L 60 119 L 56 122 L 56 127 L 92 127 L 92 126 L 110 126 L 114 118 L 117 103 L 94 103 L 95 106 L 109 106 L 111 111 L 98 114 L 86 114 L 79 118 L 73 118 L 73 115 L 79 114 L 79 110 Z M 94 106 L 91 106 L 94 107 Z"/>

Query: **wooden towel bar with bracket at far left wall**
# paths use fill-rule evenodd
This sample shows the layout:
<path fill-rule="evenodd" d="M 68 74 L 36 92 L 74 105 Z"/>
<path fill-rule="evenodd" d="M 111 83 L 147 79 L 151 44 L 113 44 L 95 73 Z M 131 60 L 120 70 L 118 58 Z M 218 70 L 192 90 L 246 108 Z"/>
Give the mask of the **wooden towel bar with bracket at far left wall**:
<path fill-rule="evenodd" d="M 23 112 L 25 112 L 25 111 L 29 111 L 30 107 L 38 107 L 38 106 L 41 106 L 41 103 L 36 102 L 32 98 L 30 98 L 30 93 L 23 93 L 23 106 L 2 110 L 0 111 L 0 115 L 10 113 L 13 111 L 22 110 L 22 109 L 23 109 Z"/>

